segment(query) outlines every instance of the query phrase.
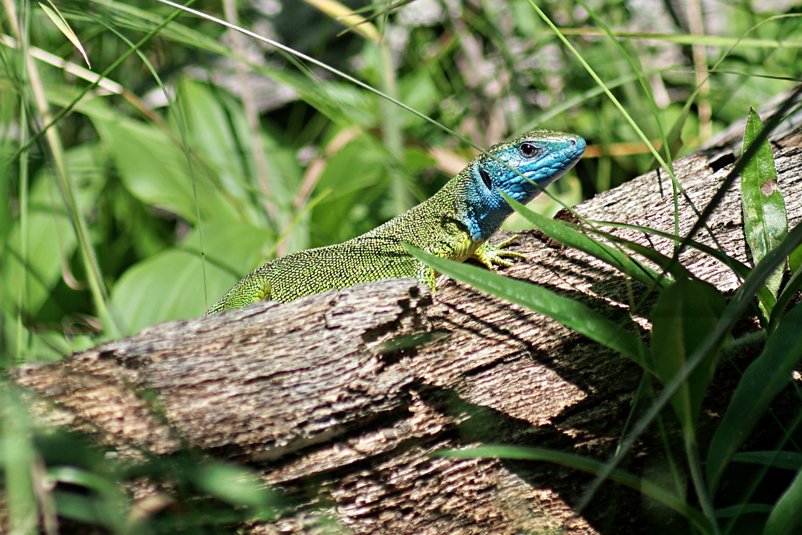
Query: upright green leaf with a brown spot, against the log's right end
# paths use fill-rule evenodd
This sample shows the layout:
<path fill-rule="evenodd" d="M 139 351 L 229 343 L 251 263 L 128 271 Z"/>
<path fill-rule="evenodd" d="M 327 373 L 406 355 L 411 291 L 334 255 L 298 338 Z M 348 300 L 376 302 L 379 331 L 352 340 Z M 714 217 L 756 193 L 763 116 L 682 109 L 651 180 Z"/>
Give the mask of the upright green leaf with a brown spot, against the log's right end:
<path fill-rule="evenodd" d="M 743 152 L 763 129 L 757 112 L 749 108 L 746 132 L 743 133 Z M 785 201 L 777 188 L 777 171 L 774 167 L 772 147 L 768 140 L 760 145 L 755 157 L 741 173 L 741 204 L 743 229 L 752 259 L 757 264 L 788 233 L 788 215 Z M 783 269 L 776 270 L 766 281 L 766 287 L 776 295 L 783 279 Z M 771 313 L 771 310 L 768 310 Z"/>

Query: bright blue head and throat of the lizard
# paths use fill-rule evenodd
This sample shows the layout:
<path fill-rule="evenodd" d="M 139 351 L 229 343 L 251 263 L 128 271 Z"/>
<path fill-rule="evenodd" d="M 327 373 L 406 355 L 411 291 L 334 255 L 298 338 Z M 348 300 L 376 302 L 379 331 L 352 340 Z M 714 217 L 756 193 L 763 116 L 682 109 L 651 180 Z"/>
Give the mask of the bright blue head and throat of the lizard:
<path fill-rule="evenodd" d="M 577 163 L 585 152 L 585 140 L 561 132 L 535 130 L 496 144 L 488 152 L 495 158 L 483 154 L 468 165 L 470 180 L 466 184 L 462 221 L 476 241 L 487 240 L 512 214 L 500 192 L 523 204 L 532 201 L 541 188 Z"/>

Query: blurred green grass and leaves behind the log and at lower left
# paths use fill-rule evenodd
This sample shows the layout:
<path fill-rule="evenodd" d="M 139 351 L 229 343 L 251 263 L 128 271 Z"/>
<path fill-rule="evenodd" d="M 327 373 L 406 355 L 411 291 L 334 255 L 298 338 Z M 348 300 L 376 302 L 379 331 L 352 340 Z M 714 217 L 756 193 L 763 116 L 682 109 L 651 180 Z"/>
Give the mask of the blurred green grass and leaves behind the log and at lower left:
<path fill-rule="evenodd" d="M 338 19 L 342 5 L 322 0 L 192 2 L 326 69 L 153 0 L 4 0 L 4 366 L 59 359 L 155 322 L 201 315 L 262 262 L 375 228 L 476 154 L 369 87 L 479 148 L 531 128 L 581 134 L 586 157 L 553 186 L 574 205 L 649 170 L 654 155 L 644 140 L 668 139 L 670 164 L 791 87 L 802 71 L 802 19 L 772 18 L 799 14 L 799 2 L 346 4 L 368 20 Z M 610 39 L 608 27 L 620 38 Z M 532 207 L 550 214 L 557 203 L 542 196 Z M 529 223 L 516 216 L 507 225 Z M 30 511 L 45 507 L 14 467 L 44 459 L 81 467 L 77 476 L 54 477 L 94 489 L 57 496 L 52 507 L 122 529 L 130 511 L 103 517 L 96 504 L 127 503 L 107 482 L 136 474 L 97 459 L 59 460 L 63 446 L 29 434 L 15 399 L 5 399 L 11 408 L 0 457 L 8 495 L 22 496 L 9 509 L 21 512 L 14 522 L 24 527 Z M 33 448 L 32 440 L 41 444 Z M 271 496 L 237 485 L 226 493 L 220 482 L 241 480 L 238 468 L 209 465 L 218 477 L 205 479 L 181 466 L 168 471 L 184 483 L 176 496 L 212 492 L 216 504 L 245 506 L 219 518 L 275 513 Z M 143 529 L 209 520 L 190 513 Z"/>

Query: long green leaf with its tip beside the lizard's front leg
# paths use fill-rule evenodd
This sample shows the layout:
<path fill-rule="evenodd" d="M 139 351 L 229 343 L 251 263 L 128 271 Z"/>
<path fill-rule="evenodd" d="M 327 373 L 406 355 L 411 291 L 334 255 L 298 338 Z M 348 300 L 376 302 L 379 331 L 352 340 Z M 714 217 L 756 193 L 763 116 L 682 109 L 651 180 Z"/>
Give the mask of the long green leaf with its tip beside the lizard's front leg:
<path fill-rule="evenodd" d="M 646 347 L 643 347 L 640 339 L 630 334 L 623 326 L 617 325 L 602 314 L 590 310 L 573 299 L 562 297 L 537 284 L 516 281 L 474 265 L 435 257 L 433 254 L 424 253 L 408 244 L 405 244 L 404 247 L 439 273 L 447 274 L 462 282 L 468 282 L 478 290 L 525 306 L 537 314 L 543 314 L 561 322 L 569 329 L 576 330 L 579 334 L 584 334 L 588 338 L 618 351 L 642 367 L 647 367 L 643 358 L 647 350 Z"/>

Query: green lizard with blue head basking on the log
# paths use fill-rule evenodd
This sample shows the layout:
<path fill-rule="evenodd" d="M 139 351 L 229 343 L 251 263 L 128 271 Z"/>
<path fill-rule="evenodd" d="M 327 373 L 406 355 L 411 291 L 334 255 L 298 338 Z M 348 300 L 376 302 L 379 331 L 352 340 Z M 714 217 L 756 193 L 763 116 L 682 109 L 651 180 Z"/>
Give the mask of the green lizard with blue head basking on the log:
<path fill-rule="evenodd" d="M 501 192 L 526 204 L 541 188 L 572 168 L 583 152 L 585 140 L 580 136 L 549 130 L 533 130 L 504 140 L 488 149 L 493 157 L 484 153 L 476 156 L 427 201 L 370 232 L 261 265 L 206 315 L 260 300 L 290 302 L 387 278 L 418 278 L 435 291 L 435 270 L 408 253 L 403 242 L 456 261 L 475 258 L 488 270 L 493 270 L 493 264 L 512 265 L 507 257 L 526 258 L 503 250 L 518 235 L 496 245 L 489 241 L 513 212 Z"/>

